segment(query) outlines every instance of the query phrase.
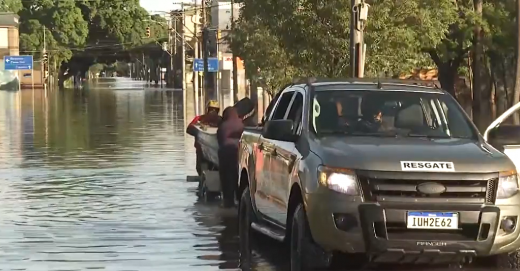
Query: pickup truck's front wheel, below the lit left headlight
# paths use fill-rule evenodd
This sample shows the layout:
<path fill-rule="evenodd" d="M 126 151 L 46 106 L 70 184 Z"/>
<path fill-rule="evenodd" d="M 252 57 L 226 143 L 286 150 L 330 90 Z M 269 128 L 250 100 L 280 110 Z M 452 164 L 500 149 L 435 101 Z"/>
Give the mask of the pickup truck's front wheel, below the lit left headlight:
<path fill-rule="evenodd" d="M 290 249 L 291 271 L 326 269 L 330 266 L 332 255 L 314 243 L 302 203 L 298 204 L 293 214 Z"/>

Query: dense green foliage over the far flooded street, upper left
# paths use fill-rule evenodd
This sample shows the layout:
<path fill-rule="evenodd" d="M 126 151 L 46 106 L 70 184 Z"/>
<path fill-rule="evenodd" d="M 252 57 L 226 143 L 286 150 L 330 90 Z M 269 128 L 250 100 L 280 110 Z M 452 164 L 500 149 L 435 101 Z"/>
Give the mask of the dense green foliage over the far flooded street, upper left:
<path fill-rule="evenodd" d="M 40 59 L 61 79 L 84 74 L 94 63 L 128 58 L 128 50 L 166 35 L 166 21 L 150 16 L 138 0 L 0 0 L 0 10 L 20 16 L 20 50 Z M 150 20 L 159 21 L 160 23 Z M 154 37 L 145 38 L 150 26 Z M 45 35 L 44 35 L 45 33 Z M 45 40 L 45 43 L 44 43 Z M 66 75 L 67 74 L 67 75 Z"/>

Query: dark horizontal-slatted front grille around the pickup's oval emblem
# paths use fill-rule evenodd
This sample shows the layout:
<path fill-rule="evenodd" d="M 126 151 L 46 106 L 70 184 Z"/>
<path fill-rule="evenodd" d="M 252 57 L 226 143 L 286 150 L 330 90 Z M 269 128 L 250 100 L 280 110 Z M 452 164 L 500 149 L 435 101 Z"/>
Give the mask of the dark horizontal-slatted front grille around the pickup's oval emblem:
<path fill-rule="evenodd" d="M 414 201 L 452 203 L 494 203 L 498 179 L 489 180 L 413 180 L 359 176 L 366 201 Z M 422 183 L 437 183 L 446 187 L 444 193 L 424 195 L 417 191 Z"/>

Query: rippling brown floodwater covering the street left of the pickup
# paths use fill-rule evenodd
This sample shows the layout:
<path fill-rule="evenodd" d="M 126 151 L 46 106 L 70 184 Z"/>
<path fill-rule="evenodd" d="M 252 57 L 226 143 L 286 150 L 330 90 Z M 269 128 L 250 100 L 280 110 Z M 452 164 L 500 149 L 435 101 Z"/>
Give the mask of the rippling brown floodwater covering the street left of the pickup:
<path fill-rule="evenodd" d="M 236 212 L 186 182 L 182 98 L 129 79 L 0 92 L 0 270 L 238 269 Z"/>

